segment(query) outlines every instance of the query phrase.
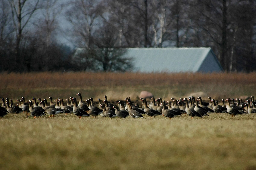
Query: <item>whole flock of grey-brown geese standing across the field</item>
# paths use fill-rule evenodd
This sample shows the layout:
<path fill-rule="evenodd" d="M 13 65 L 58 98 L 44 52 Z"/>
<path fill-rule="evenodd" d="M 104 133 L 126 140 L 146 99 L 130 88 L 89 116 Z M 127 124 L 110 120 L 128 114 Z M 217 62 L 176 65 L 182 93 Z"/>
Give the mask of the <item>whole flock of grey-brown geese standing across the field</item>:
<path fill-rule="evenodd" d="M 208 97 L 209 101 L 204 102 L 201 97 L 189 97 L 189 98 L 180 98 L 177 100 L 171 98 L 169 101 L 165 101 L 161 98 L 155 100 L 154 97 L 151 98 L 152 102 L 147 103 L 146 99 L 140 98 L 141 102 L 133 104 L 130 97 L 127 97 L 125 100 L 117 100 L 114 104 L 108 102 L 107 96 L 104 96 L 105 100 L 101 101 L 98 99 L 98 106 L 95 106 L 95 103 L 91 98 L 83 101 L 82 95 L 80 93 L 76 94 L 80 97 L 79 102 L 77 102 L 76 97 L 70 97 L 67 100 L 67 104 L 64 105 L 64 100 L 61 98 L 55 99 L 53 103 L 52 97 L 49 97 L 50 103 L 46 99 L 41 100 L 38 98 L 33 98 L 25 102 L 25 98 L 17 99 L 18 104 L 14 105 L 13 100 L 2 98 L 2 106 L 0 106 L 0 117 L 4 117 L 8 113 L 20 113 L 26 112 L 27 117 L 32 116 L 38 118 L 43 115 L 49 115 L 49 117 L 54 117 L 60 113 L 73 113 L 79 118 L 81 117 L 90 117 L 96 118 L 98 115 L 108 118 L 126 118 L 131 116 L 132 118 L 144 118 L 143 115 L 148 115 L 151 118 L 162 115 L 167 118 L 173 118 L 180 116 L 182 114 L 187 114 L 191 116 L 191 119 L 194 117 L 203 118 L 204 116 L 209 116 L 209 114 L 216 113 L 228 113 L 229 115 L 236 116 L 241 114 L 251 114 L 256 113 L 256 105 L 254 97 L 251 96 L 245 102 L 240 101 L 239 99 L 222 99 L 221 104 L 217 100 Z M 232 102 L 232 104 L 231 104 Z"/>

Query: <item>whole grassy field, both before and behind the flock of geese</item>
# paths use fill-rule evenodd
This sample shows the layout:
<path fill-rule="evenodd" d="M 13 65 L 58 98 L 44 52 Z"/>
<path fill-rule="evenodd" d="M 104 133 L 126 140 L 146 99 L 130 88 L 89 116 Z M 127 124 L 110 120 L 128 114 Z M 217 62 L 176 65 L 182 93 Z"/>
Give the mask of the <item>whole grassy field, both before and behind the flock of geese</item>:
<path fill-rule="evenodd" d="M 256 73 L 2 73 L 0 97 L 67 98 L 80 92 L 84 99 L 107 95 L 114 100 L 130 94 L 136 99 L 147 90 L 166 99 L 197 92 L 204 92 L 205 98 L 236 98 L 255 96 L 255 77 Z M 255 122 L 255 114 L 211 114 L 192 120 L 187 115 L 120 120 L 8 114 L 0 119 L 0 169 L 256 169 Z"/>

